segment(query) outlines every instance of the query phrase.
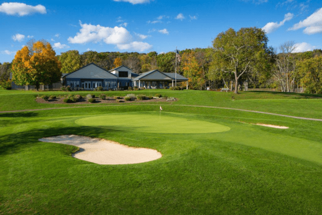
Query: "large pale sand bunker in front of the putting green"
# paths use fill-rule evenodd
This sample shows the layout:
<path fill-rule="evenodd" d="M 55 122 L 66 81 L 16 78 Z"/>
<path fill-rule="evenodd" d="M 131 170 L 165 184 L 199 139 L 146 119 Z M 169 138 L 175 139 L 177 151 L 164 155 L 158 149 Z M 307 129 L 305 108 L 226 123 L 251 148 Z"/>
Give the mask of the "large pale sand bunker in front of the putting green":
<path fill-rule="evenodd" d="M 162 157 L 156 150 L 133 148 L 109 140 L 78 135 L 46 137 L 39 141 L 77 146 L 80 151 L 74 153 L 73 157 L 96 164 L 137 164 Z"/>

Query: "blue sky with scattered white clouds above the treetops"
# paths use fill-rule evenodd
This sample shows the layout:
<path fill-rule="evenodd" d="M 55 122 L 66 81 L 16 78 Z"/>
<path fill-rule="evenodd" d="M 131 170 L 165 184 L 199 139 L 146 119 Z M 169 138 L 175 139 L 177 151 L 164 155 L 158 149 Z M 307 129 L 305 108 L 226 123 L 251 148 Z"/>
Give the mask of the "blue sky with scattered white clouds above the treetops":
<path fill-rule="evenodd" d="M 11 62 L 31 38 L 57 54 L 205 48 L 232 27 L 263 28 L 269 45 L 322 49 L 318 0 L 77 0 L 0 2 L 0 62 Z"/>

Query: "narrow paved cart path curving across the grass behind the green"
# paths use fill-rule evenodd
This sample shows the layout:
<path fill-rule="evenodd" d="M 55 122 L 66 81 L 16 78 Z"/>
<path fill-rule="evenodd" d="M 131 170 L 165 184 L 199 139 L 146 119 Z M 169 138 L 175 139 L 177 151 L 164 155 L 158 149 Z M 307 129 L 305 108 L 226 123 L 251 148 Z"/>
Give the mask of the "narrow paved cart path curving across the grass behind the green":
<path fill-rule="evenodd" d="M 143 105 L 143 106 L 152 106 L 155 104 L 150 105 Z M 303 120 L 312 120 L 312 121 L 322 121 L 322 119 L 315 119 L 315 118 L 307 118 L 307 117 L 300 117 L 300 116 L 290 116 L 290 115 L 284 115 L 284 114 L 278 114 L 278 113 L 269 113 L 269 112 L 262 112 L 262 111 L 256 111 L 256 110 L 245 110 L 245 109 L 239 109 L 239 108 L 224 108 L 224 107 L 212 107 L 212 106 L 199 106 L 199 105 L 166 105 L 166 104 L 160 104 L 162 106 L 183 106 L 183 107 L 195 107 L 195 108 L 218 108 L 218 109 L 228 109 L 228 110 L 239 110 L 239 111 L 245 111 L 245 112 L 253 112 L 253 113 L 262 113 L 262 114 L 269 114 L 269 115 L 275 115 L 275 116 L 283 116 L 283 117 L 289 117 L 294 119 L 303 119 Z M 155 106 L 160 106 L 155 105 Z M 97 108 L 97 107 L 115 107 L 115 106 L 142 106 L 139 104 L 133 104 L 133 105 L 100 105 L 100 106 L 76 106 L 76 107 L 61 107 L 61 108 L 42 108 L 42 109 L 25 109 L 25 110 L 6 110 L 6 111 L 0 111 L 0 113 L 15 113 L 15 112 L 25 112 L 25 111 L 39 111 L 39 110 L 53 110 L 53 109 L 69 109 L 69 108 Z"/>

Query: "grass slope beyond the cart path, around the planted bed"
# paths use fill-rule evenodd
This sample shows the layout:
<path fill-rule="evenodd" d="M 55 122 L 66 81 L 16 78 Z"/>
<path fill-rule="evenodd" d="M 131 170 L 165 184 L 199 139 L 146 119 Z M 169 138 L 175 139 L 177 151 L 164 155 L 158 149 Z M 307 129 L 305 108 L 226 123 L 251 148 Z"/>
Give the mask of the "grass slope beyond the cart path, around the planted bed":
<path fill-rule="evenodd" d="M 22 110 L 36 108 L 54 108 L 71 106 L 93 106 L 77 104 L 38 104 L 35 102 L 36 96 L 46 95 L 67 95 L 81 94 L 88 92 L 26 92 L 19 90 L 0 90 L 0 111 L 3 110 Z M 102 92 L 94 92 L 96 95 Z M 241 108 L 248 110 L 258 110 L 285 115 L 312 117 L 322 119 L 322 95 L 296 94 L 296 93 L 278 93 L 278 92 L 241 92 L 238 95 L 226 92 L 198 91 L 198 90 L 140 90 L 140 91 L 105 91 L 108 96 L 126 95 L 127 93 L 155 95 L 161 93 L 168 97 L 179 98 L 177 105 L 201 105 L 226 108 Z M 234 100 L 232 100 L 234 96 Z M 10 102 L 9 102 L 10 101 Z M 99 106 L 100 104 L 96 104 Z M 103 104 L 102 104 L 103 105 Z M 121 104 L 124 105 L 124 104 Z"/>

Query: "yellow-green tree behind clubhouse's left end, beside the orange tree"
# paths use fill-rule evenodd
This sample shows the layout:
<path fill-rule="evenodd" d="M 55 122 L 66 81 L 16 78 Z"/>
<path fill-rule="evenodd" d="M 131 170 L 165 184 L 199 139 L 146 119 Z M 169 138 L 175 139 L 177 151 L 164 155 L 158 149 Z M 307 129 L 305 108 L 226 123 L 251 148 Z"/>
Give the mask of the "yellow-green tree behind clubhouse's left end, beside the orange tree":
<path fill-rule="evenodd" d="M 59 56 L 61 72 L 70 73 L 80 68 L 80 53 L 77 50 L 70 50 L 61 53 Z"/>

